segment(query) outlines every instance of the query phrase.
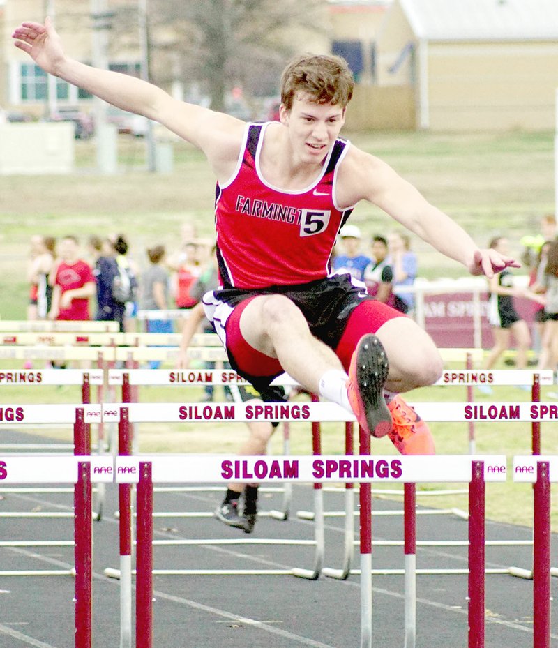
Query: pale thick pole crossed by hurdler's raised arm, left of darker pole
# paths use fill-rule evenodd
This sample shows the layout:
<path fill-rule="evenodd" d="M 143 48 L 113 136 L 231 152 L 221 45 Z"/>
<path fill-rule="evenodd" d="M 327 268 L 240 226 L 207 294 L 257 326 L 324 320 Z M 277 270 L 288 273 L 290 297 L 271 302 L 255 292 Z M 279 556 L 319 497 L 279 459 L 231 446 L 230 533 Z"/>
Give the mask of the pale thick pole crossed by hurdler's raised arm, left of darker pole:
<path fill-rule="evenodd" d="M 114 13 L 108 10 L 107 0 L 91 0 L 93 36 L 91 54 L 93 67 L 107 70 L 109 30 Z M 116 172 L 116 129 L 107 124 L 107 104 L 93 97 L 93 117 L 97 150 L 97 170 L 100 173 Z"/>

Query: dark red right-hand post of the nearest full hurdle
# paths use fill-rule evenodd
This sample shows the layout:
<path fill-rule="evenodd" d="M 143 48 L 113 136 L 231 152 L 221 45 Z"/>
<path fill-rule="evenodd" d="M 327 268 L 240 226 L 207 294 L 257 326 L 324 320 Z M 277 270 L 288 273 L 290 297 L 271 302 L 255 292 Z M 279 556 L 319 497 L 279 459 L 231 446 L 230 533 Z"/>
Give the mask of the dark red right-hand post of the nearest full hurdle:
<path fill-rule="evenodd" d="M 485 481 L 484 462 L 472 462 L 469 483 L 469 648 L 485 642 Z"/>

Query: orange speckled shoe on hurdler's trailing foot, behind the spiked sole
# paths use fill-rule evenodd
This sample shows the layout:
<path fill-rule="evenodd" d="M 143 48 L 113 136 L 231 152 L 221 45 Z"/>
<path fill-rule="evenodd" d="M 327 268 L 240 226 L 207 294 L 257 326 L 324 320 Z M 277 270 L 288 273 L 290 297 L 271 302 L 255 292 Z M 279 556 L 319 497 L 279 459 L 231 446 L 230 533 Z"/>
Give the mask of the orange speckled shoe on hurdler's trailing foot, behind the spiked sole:
<path fill-rule="evenodd" d="M 402 455 L 434 455 L 434 439 L 428 425 L 400 395 L 388 405 L 393 419 L 389 438 Z"/>

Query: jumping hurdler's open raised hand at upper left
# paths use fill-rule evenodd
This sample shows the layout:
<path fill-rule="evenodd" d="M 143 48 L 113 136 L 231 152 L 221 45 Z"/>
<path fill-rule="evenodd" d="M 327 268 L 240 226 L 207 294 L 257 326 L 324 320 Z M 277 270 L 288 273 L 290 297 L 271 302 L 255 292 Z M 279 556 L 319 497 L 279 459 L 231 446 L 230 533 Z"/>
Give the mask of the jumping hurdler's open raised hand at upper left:
<path fill-rule="evenodd" d="M 65 56 L 50 17 L 47 16 L 44 25 L 40 22 L 23 22 L 14 30 L 12 38 L 15 47 L 29 54 L 40 68 L 47 73 L 56 74 L 56 69 Z"/>

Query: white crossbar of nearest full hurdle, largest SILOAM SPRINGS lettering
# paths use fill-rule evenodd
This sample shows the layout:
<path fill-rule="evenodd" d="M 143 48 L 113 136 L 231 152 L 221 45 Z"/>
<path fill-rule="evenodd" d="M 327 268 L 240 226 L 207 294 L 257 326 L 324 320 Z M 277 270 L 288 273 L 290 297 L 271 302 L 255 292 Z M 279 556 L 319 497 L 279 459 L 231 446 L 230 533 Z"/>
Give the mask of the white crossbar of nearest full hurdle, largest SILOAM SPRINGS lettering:
<path fill-rule="evenodd" d="M 473 462 L 482 461 L 485 481 L 506 481 L 502 455 L 444 455 L 434 457 L 153 455 L 117 457 L 116 481 L 135 483 L 140 462 L 151 463 L 154 482 L 255 483 L 300 481 L 351 482 L 460 482 L 472 479 Z"/>

